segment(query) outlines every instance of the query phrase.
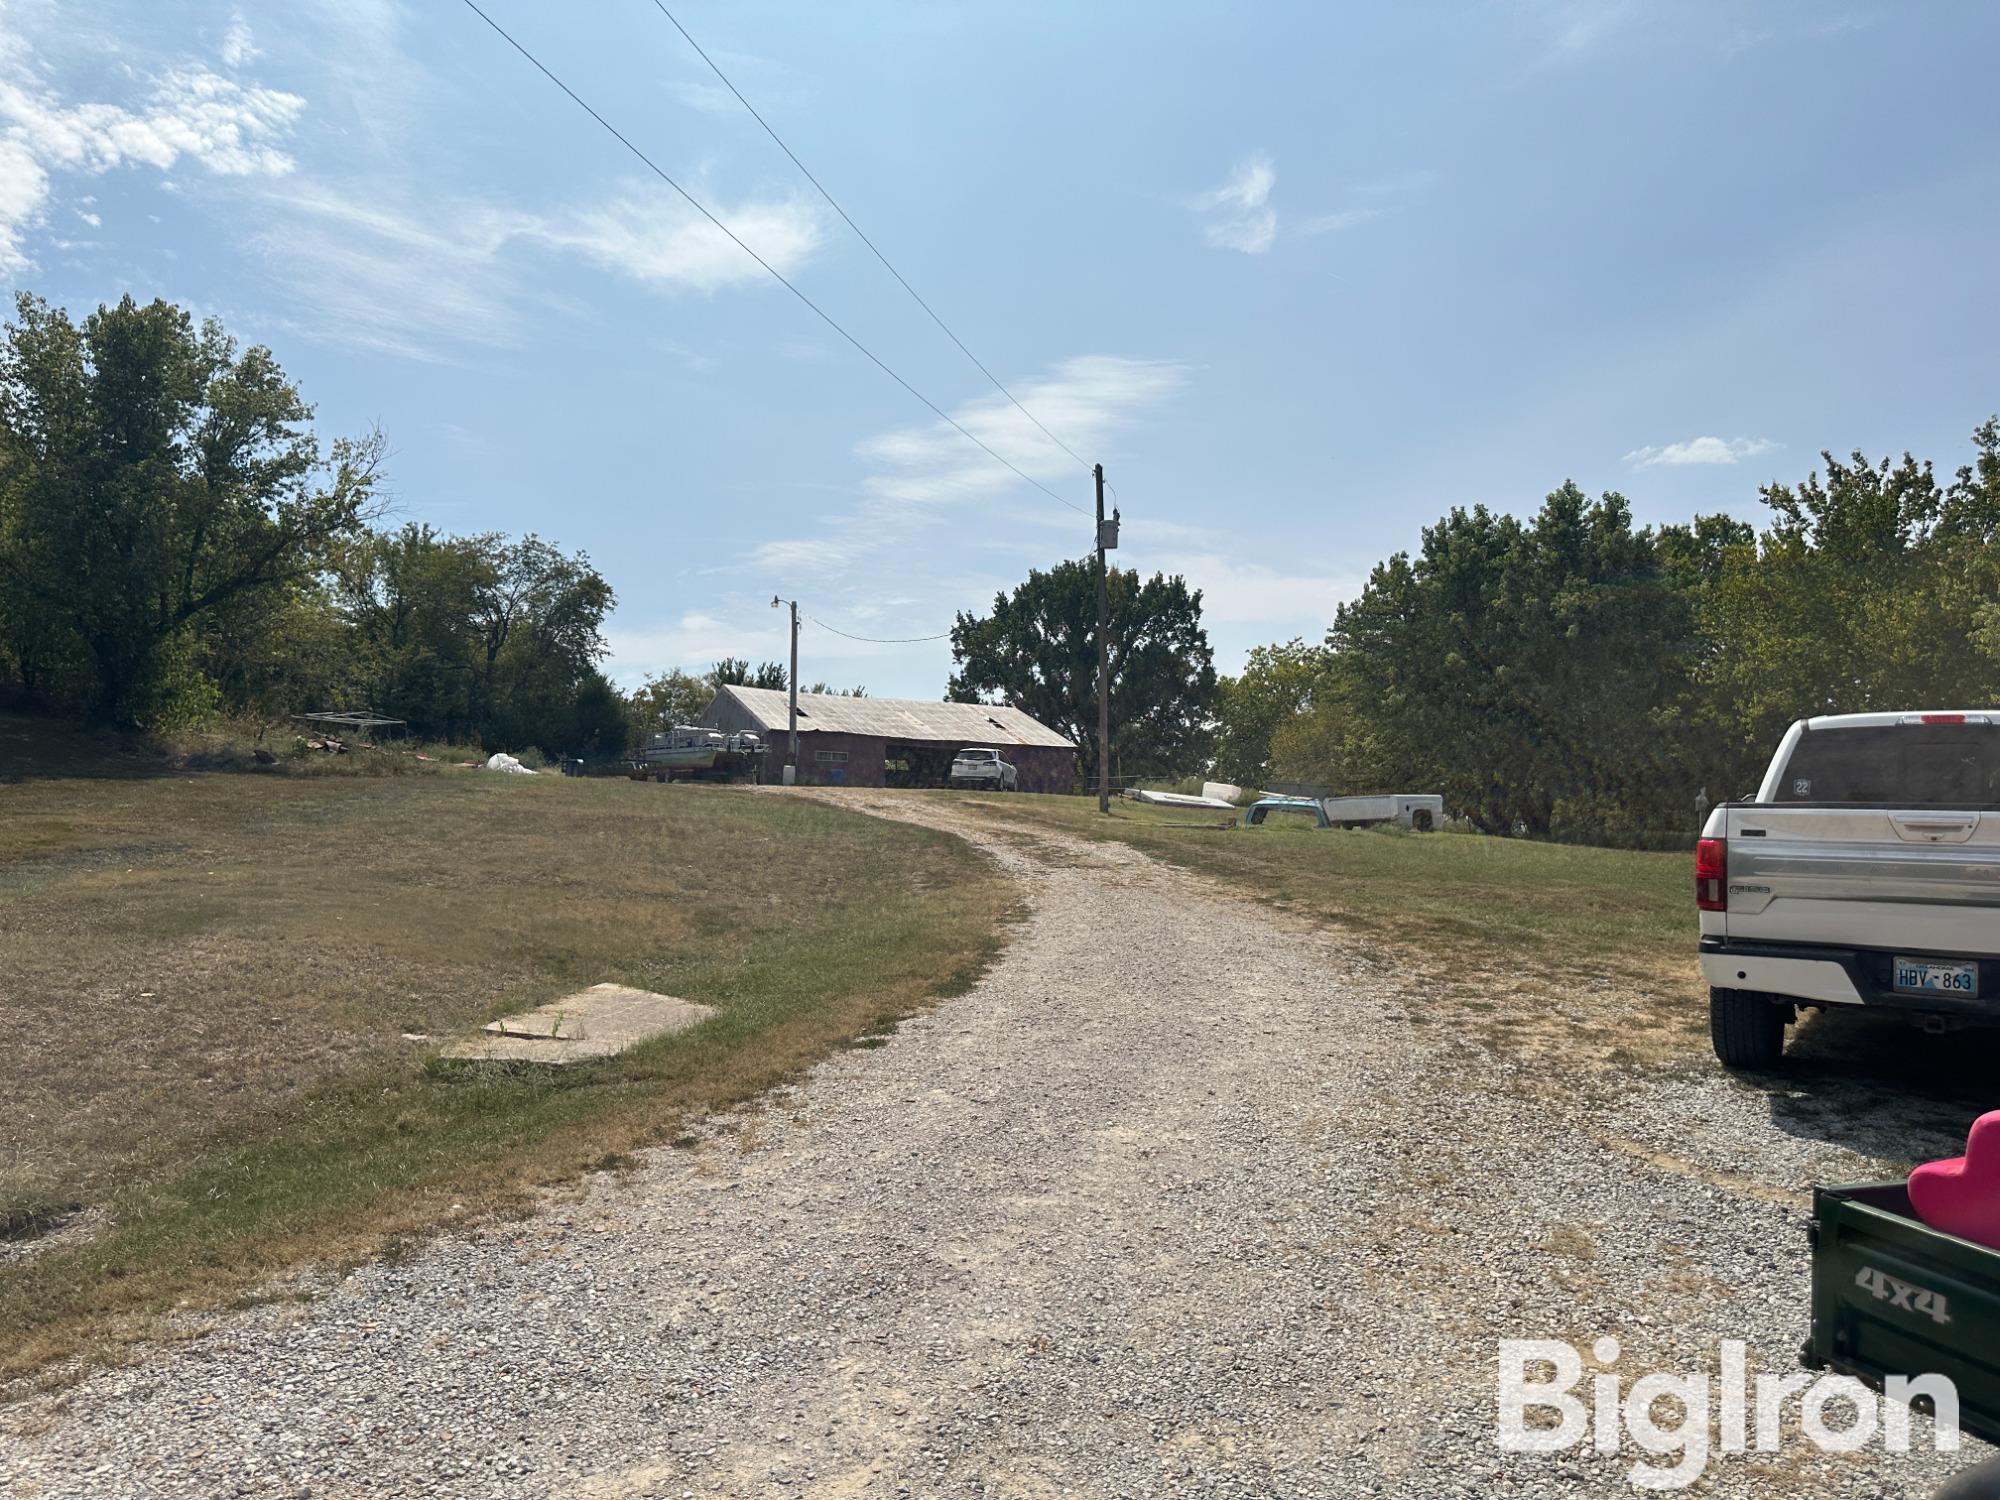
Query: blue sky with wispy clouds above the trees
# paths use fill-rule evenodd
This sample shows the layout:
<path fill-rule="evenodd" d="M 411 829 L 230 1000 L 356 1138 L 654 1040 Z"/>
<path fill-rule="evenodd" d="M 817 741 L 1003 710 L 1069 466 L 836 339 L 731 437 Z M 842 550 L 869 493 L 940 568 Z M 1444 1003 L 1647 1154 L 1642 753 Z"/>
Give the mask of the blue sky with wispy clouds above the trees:
<path fill-rule="evenodd" d="M 654 0 L 0 2 L 0 276 L 276 350 L 394 514 L 612 582 L 606 670 L 940 698 L 1092 480 Z M 978 360 L 1102 462 L 1216 664 L 1452 506 L 1762 516 L 2000 410 L 2000 8 L 668 0 Z M 846 632 L 846 634 L 836 634 Z M 894 638 L 868 644 L 850 636 Z"/>

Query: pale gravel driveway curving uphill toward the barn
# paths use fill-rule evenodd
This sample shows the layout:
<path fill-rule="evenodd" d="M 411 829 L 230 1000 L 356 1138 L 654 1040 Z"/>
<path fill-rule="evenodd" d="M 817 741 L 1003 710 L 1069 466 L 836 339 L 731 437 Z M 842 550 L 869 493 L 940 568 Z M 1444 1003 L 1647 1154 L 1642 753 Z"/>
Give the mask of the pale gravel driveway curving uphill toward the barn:
<path fill-rule="evenodd" d="M 1122 846 L 846 802 L 1022 880 L 972 992 L 536 1218 L 16 1402 L 0 1494 L 1614 1496 L 1630 1446 L 1498 1450 L 1500 1338 L 1796 1368 L 1802 1188 L 1878 1168 L 1838 1132 L 1510 1062 Z M 1978 1456 L 1792 1438 L 1702 1492 Z"/>

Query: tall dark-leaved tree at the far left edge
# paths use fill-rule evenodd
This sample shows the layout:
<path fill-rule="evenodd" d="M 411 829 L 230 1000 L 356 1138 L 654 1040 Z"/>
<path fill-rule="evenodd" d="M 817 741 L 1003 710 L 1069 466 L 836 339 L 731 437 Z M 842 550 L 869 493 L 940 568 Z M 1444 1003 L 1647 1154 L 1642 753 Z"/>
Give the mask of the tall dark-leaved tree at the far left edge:
<path fill-rule="evenodd" d="M 24 682 L 150 722 L 200 630 L 310 580 L 372 514 L 380 438 L 322 450 L 270 350 L 130 296 L 16 298 L 0 346 L 0 622 Z"/>

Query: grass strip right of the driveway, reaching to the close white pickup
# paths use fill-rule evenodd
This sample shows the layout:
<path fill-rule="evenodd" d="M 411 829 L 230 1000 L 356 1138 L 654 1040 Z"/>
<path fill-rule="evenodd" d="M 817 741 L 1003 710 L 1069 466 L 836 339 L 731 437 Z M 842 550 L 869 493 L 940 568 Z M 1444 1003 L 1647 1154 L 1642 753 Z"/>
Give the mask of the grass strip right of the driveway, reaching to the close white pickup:
<path fill-rule="evenodd" d="M 1688 854 L 1468 834 L 1314 828 L 1094 798 L 998 796 L 1016 828 L 1114 838 L 1394 954 L 1422 982 L 1412 1018 L 1446 1014 L 1560 1068 L 1706 1056 Z M 1412 996 L 1416 1000 L 1418 996 Z"/>

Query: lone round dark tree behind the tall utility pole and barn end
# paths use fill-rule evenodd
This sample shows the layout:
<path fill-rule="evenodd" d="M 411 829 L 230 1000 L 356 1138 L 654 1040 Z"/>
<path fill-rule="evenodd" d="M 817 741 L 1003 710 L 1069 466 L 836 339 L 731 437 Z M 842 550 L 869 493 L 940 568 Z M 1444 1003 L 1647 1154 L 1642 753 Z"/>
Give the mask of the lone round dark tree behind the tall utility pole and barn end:
<path fill-rule="evenodd" d="M 1112 770 L 1122 778 L 1182 776 L 1208 760 L 1216 666 L 1202 630 L 1202 594 L 1184 578 L 1112 568 Z M 1086 776 L 1098 750 L 1096 562 L 1034 570 L 990 616 L 952 626 L 952 702 L 1010 702 L 1078 746 Z"/>

